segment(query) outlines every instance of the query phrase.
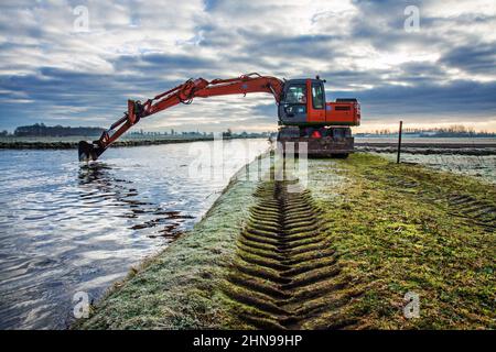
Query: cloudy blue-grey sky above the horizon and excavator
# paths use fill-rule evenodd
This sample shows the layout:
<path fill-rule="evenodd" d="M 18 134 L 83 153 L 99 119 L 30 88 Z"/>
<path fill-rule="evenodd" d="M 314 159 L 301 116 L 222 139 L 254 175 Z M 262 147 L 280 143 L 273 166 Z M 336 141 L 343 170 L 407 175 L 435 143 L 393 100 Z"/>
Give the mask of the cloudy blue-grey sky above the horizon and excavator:
<path fill-rule="evenodd" d="M 496 131 L 494 0 L 2 0 L 0 46 L 1 130 L 107 127 L 128 98 L 258 72 L 320 75 L 327 99 L 360 100 L 362 130 L 401 118 Z M 276 121 L 272 98 L 252 95 L 196 99 L 138 128 L 265 131 Z"/>

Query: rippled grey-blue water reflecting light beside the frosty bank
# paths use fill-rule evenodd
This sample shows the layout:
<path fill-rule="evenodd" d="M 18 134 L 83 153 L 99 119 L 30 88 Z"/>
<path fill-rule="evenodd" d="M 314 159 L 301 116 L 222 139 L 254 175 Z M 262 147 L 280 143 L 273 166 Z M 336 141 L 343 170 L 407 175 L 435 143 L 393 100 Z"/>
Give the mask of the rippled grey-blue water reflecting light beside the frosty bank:
<path fill-rule="evenodd" d="M 75 150 L 0 151 L 0 329 L 65 328 L 76 293 L 100 297 L 268 147 L 202 143 L 110 148 L 89 165 Z"/>

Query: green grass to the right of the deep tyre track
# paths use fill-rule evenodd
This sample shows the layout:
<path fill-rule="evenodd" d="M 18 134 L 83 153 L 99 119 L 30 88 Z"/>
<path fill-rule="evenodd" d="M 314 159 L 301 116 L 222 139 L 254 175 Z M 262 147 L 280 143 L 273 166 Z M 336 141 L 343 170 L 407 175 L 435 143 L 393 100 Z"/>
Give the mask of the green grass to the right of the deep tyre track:
<path fill-rule="evenodd" d="M 309 164 L 311 180 L 322 173 L 346 179 L 328 188 L 310 180 L 310 187 L 323 193 L 341 275 L 364 287 L 337 318 L 381 329 L 495 327 L 494 230 L 453 216 L 457 209 L 448 201 L 470 194 L 494 204 L 494 186 L 367 154 L 321 167 L 321 175 L 312 174 L 312 163 L 320 162 Z M 420 296 L 418 319 L 403 317 L 407 292 Z"/>

